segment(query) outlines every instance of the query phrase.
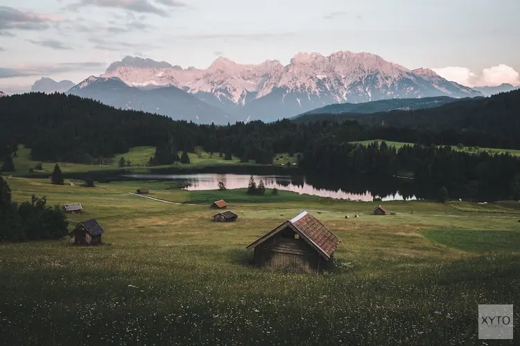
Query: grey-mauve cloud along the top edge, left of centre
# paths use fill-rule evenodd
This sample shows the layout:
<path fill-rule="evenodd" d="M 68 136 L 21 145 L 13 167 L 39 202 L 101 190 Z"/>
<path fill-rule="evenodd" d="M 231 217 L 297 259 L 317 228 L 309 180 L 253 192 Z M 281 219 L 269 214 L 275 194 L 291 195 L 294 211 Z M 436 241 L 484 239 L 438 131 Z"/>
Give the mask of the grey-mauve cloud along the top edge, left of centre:
<path fill-rule="evenodd" d="M 167 7 L 184 7 L 186 3 L 176 0 L 156 0 L 155 3 L 160 3 Z M 168 17 L 168 11 L 162 7 L 157 6 L 150 0 L 76 0 L 75 3 L 67 6 L 71 10 L 78 10 L 85 6 L 96 6 L 103 8 L 119 8 L 133 12 L 151 13 L 162 17 Z"/>

